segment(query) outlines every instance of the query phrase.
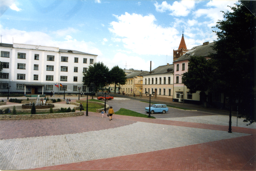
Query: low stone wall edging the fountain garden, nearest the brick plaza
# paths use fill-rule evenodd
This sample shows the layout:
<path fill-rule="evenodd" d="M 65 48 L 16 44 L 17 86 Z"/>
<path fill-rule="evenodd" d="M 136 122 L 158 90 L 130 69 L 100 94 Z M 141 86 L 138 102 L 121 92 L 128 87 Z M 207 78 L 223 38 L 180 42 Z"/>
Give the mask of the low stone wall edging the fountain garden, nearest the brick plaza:
<path fill-rule="evenodd" d="M 35 115 L 0 115 L 0 120 L 20 120 L 20 119 L 46 119 L 46 118 L 61 118 L 70 116 L 84 115 L 84 112 L 69 112 L 69 113 L 50 113 L 50 114 L 35 114 Z"/>

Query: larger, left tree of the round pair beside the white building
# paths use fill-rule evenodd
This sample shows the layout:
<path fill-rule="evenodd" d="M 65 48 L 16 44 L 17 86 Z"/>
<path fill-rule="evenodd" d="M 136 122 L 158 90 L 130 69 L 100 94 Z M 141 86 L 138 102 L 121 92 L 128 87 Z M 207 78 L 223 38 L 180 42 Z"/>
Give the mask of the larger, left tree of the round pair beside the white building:
<path fill-rule="evenodd" d="M 96 96 L 99 87 L 104 87 L 109 84 L 109 69 L 102 62 L 90 65 L 87 72 L 84 73 L 83 84 L 89 87 L 91 83 L 95 84 Z"/>

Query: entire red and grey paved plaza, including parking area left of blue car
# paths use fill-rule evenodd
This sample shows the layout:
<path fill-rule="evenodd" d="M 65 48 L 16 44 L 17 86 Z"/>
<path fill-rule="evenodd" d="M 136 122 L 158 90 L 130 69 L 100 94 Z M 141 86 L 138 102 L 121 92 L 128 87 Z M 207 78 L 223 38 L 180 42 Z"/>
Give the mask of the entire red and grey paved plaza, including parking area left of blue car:
<path fill-rule="evenodd" d="M 59 103 L 61 105 L 61 103 Z M 64 104 L 67 107 L 67 104 Z M 135 100 L 108 101 L 143 112 Z M 169 108 L 156 119 L 100 113 L 0 121 L 0 170 L 256 170 L 256 126 Z"/>

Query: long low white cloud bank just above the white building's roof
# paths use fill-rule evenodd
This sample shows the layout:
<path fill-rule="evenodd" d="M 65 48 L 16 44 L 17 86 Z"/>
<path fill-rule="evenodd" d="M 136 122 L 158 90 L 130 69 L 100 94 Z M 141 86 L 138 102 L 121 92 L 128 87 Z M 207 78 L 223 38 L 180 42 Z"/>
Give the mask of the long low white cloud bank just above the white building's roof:
<path fill-rule="evenodd" d="M 2 28 L 0 25 L 0 32 L 2 35 L 3 43 L 12 44 L 12 38 L 14 43 L 22 43 L 29 45 L 42 45 L 42 46 L 52 46 L 61 49 L 78 50 L 85 53 L 91 53 L 95 55 L 102 55 L 102 52 L 94 47 L 92 42 L 77 41 L 73 39 L 70 35 L 67 35 L 64 41 L 56 41 L 54 38 L 48 34 L 40 31 L 20 31 L 17 29 Z"/>

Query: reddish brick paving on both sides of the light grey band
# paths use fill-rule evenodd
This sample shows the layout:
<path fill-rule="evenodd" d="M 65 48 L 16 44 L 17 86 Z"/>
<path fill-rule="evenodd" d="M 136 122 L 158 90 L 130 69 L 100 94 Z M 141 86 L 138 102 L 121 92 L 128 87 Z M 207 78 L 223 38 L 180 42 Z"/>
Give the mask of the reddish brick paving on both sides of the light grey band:
<path fill-rule="evenodd" d="M 228 126 L 187 123 L 113 115 L 113 122 L 101 114 L 38 120 L 0 121 L 0 139 L 62 135 L 124 126 L 137 121 L 228 131 Z M 105 116 L 106 117 L 106 116 Z M 116 120 L 116 121 L 115 121 Z M 73 124 L 76 123 L 76 124 Z M 37 129 L 35 129 L 37 128 Z M 32 130 L 36 130 L 33 132 Z M 232 127 L 244 137 L 183 146 L 127 156 L 35 168 L 34 170 L 256 170 L 256 130 Z"/>

